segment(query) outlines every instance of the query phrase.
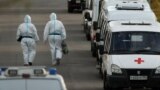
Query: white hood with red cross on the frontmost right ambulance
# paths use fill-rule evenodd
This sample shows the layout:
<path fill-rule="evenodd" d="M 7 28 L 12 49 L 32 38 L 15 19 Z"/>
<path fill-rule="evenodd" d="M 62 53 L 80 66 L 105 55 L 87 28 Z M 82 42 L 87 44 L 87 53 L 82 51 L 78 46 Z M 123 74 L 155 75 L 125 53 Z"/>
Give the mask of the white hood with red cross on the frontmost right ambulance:
<path fill-rule="evenodd" d="M 156 68 L 160 66 L 159 55 L 111 55 L 112 63 L 121 68 Z"/>

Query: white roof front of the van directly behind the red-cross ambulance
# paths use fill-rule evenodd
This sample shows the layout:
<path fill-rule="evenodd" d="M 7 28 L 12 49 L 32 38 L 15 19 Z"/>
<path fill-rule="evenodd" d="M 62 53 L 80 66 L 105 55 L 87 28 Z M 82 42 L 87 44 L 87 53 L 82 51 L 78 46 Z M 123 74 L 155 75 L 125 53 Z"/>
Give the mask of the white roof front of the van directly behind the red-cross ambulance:
<path fill-rule="evenodd" d="M 113 7 L 108 8 L 108 12 L 106 12 L 106 18 L 108 19 L 108 21 L 114 21 L 114 20 L 156 21 L 157 20 L 153 11 L 148 11 L 148 10 L 145 10 L 145 11 L 142 11 L 142 10 L 113 10 Z"/>

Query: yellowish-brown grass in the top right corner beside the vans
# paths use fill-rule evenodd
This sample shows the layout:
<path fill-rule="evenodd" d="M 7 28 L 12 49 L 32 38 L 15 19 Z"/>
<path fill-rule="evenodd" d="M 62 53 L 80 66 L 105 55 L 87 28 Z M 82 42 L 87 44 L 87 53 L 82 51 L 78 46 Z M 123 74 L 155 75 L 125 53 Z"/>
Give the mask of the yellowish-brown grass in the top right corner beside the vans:
<path fill-rule="evenodd" d="M 151 3 L 151 8 L 157 16 L 157 20 L 160 22 L 160 0 L 153 0 Z"/>

